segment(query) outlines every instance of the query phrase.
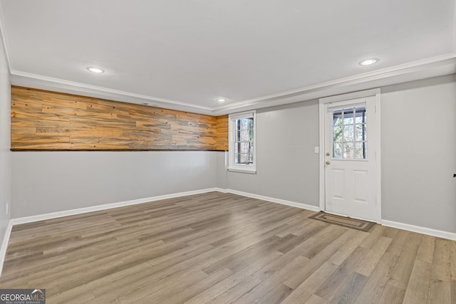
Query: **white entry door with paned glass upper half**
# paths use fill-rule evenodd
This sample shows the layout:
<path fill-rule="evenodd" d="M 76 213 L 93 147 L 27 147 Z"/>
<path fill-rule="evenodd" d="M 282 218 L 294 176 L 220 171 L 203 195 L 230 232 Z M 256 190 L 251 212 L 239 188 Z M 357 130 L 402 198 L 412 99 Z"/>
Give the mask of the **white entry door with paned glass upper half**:
<path fill-rule="evenodd" d="M 376 97 L 324 103 L 324 210 L 379 221 Z"/>

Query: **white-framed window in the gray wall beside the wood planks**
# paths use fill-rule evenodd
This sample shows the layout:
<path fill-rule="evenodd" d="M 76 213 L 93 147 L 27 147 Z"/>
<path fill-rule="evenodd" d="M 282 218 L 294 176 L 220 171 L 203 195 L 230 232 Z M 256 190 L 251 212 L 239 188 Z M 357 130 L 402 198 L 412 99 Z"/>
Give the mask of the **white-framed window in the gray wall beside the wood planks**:
<path fill-rule="evenodd" d="M 229 115 L 229 171 L 255 173 L 255 112 Z"/>

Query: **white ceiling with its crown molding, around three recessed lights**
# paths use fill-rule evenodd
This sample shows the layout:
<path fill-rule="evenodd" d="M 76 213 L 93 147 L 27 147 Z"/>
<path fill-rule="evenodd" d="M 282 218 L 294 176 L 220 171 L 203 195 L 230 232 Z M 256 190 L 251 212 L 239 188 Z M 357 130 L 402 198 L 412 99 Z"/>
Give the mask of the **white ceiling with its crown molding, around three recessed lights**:
<path fill-rule="evenodd" d="M 12 84 L 130 103 L 221 115 L 456 73 L 455 0 L 0 4 Z"/>

